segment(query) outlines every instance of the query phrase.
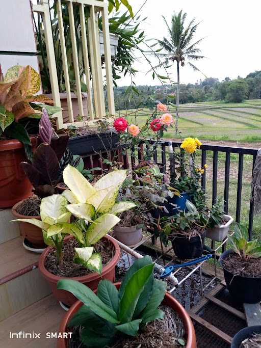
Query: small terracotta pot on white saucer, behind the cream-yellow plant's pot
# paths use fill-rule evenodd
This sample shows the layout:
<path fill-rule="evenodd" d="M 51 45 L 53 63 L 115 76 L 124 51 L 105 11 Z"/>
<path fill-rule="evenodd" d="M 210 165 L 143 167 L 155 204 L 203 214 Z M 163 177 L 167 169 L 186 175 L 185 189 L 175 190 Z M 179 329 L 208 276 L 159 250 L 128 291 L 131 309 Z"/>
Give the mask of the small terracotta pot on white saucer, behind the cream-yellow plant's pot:
<path fill-rule="evenodd" d="M 27 216 L 27 215 L 19 214 L 16 211 L 16 209 L 22 202 L 23 202 L 23 200 L 18 202 L 18 203 L 16 203 L 12 207 L 12 214 L 13 214 L 13 216 L 16 219 L 37 219 L 37 220 L 41 220 L 40 216 Z M 18 224 L 19 224 L 21 235 L 24 238 L 27 238 L 28 242 L 30 242 L 33 245 L 33 247 L 35 247 L 37 249 L 46 248 L 46 245 L 43 242 L 43 232 L 42 232 L 40 227 L 37 227 L 37 226 L 32 225 L 32 224 L 29 224 L 27 222 L 18 222 Z"/>

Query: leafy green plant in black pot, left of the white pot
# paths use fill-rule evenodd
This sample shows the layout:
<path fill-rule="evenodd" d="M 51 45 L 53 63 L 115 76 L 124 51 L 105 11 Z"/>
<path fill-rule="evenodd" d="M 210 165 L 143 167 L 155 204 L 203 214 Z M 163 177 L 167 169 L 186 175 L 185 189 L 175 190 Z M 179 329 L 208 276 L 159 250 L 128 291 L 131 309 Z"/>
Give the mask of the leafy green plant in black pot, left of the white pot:
<path fill-rule="evenodd" d="M 198 212 L 188 200 L 186 207 L 187 212 L 180 210 L 172 217 L 163 217 L 160 226 L 161 232 L 171 240 L 175 255 L 181 260 L 202 255 L 208 221 L 206 213 Z"/>

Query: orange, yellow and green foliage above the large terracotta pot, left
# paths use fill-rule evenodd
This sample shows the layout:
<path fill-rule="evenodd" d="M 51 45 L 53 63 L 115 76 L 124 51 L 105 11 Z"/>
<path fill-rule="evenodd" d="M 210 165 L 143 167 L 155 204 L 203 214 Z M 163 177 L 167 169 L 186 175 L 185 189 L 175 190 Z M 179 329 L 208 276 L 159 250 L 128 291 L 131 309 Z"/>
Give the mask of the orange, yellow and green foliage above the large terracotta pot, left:
<path fill-rule="evenodd" d="M 31 145 L 28 132 L 20 121 L 24 118 L 28 118 L 28 121 L 40 119 L 42 106 L 46 106 L 49 112 L 53 108 L 50 105 L 54 103 L 45 95 L 34 95 L 40 90 L 40 86 L 40 76 L 30 65 L 15 65 L 7 70 L 3 81 L 0 82 L 1 139 L 18 139 Z M 41 103 L 41 108 L 35 102 Z M 56 112 L 59 110 L 56 108 Z"/>

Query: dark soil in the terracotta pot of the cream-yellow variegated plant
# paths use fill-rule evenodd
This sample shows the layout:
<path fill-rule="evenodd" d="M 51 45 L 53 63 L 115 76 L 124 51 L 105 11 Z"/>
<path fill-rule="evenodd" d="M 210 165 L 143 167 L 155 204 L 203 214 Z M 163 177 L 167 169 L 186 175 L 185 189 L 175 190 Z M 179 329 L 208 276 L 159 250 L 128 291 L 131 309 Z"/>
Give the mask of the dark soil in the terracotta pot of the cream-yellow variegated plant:
<path fill-rule="evenodd" d="M 59 277 L 82 277 L 86 274 L 93 273 L 93 271 L 87 269 L 79 263 L 73 262 L 75 254 L 74 248 L 79 247 L 77 241 L 71 238 L 67 243 L 63 244 L 63 262 L 59 265 L 56 258 L 56 250 L 51 249 L 49 254 L 45 258 L 45 269 Z M 101 254 L 102 267 L 104 267 L 113 258 L 114 248 L 113 245 L 107 243 L 106 240 L 99 240 L 95 244 L 96 252 Z"/>

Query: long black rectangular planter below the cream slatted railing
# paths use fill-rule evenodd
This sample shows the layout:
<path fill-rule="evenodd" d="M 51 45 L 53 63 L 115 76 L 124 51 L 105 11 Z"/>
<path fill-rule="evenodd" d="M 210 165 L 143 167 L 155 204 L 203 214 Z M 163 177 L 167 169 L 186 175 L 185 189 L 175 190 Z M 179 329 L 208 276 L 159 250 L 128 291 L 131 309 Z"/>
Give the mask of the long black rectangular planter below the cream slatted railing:
<path fill-rule="evenodd" d="M 118 133 L 107 131 L 69 138 L 68 147 L 74 155 L 88 155 L 95 151 L 115 149 L 118 145 Z"/>

